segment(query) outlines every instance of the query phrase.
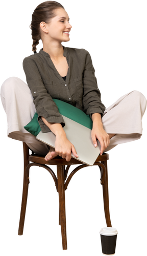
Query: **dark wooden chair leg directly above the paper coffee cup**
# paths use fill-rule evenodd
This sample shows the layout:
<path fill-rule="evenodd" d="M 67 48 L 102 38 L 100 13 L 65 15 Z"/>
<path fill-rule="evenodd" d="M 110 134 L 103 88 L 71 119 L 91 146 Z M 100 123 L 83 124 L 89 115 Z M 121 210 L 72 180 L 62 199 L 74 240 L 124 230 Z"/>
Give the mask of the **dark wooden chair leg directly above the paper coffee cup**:
<path fill-rule="evenodd" d="M 113 227 L 110 199 L 109 162 L 104 161 L 102 163 L 106 168 L 104 185 L 101 186 L 103 218 L 107 227 Z"/>

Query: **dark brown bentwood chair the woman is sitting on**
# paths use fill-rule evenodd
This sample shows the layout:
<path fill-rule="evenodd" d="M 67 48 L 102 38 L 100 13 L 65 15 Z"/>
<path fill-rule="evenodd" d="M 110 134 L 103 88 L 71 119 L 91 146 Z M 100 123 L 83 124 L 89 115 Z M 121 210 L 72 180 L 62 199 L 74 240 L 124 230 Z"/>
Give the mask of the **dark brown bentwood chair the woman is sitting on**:
<path fill-rule="evenodd" d="M 57 226 L 60 229 L 61 251 L 69 251 L 66 191 L 69 190 L 69 186 L 78 172 L 81 172 L 81 170 L 85 168 L 89 168 L 89 166 L 82 164 L 80 161 L 74 158 L 71 158 L 71 160 L 67 162 L 61 157 L 56 157 L 46 162 L 42 156 L 38 156 L 34 153 L 29 154 L 29 147 L 26 143 L 22 142 L 21 148 L 22 183 L 16 237 L 24 237 L 24 232 L 26 229 L 31 185 L 31 169 L 33 167 L 42 168 L 52 179 L 55 193 L 57 194 Z M 102 156 L 97 157 L 93 167 L 96 166 L 99 170 L 99 185 L 101 186 L 104 223 L 107 227 L 112 227 L 113 222 L 110 201 L 109 161 L 110 153 L 103 154 Z"/>

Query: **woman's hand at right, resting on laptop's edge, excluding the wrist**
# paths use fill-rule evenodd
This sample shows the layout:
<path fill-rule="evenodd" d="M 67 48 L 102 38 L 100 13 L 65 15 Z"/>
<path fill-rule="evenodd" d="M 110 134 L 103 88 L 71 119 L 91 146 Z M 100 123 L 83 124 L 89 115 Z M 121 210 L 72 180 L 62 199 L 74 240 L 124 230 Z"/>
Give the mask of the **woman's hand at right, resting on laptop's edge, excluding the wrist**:
<path fill-rule="evenodd" d="M 99 125 L 96 125 L 92 128 L 91 138 L 92 138 L 92 141 L 93 141 L 93 144 L 94 144 L 95 147 L 97 146 L 96 139 L 98 139 L 100 141 L 100 144 L 101 144 L 101 153 L 100 153 L 100 155 L 102 156 L 104 150 L 106 150 L 106 148 L 110 144 L 109 135 L 103 129 L 103 124 L 102 123 L 100 123 Z"/>

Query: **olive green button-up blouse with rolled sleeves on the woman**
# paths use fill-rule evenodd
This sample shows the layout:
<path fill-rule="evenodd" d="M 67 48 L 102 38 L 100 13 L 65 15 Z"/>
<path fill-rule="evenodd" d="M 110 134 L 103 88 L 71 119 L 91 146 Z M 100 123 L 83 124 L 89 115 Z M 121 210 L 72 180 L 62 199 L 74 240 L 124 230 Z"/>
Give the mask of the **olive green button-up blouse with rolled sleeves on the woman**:
<path fill-rule="evenodd" d="M 87 48 L 66 45 L 63 45 L 63 50 L 69 67 L 65 80 L 56 70 L 50 55 L 42 49 L 23 56 L 21 60 L 21 70 L 34 98 L 43 133 L 50 129 L 41 116 L 48 122 L 65 125 L 53 98 L 76 106 L 90 117 L 94 113 L 103 115 L 106 109 L 91 52 Z"/>

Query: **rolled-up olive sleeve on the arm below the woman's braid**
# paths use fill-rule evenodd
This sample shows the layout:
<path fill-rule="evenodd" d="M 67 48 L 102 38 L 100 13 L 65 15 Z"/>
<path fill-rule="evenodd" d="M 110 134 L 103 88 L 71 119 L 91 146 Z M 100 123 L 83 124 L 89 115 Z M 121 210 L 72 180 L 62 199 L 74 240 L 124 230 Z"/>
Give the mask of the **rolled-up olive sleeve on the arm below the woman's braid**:
<path fill-rule="evenodd" d="M 50 129 L 42 121 L 41 116 L 48 122 L 61 123 L 62 127 L 64 127 L 64 119 L 59 113 L 56 103 L 47 92 L 33 58 L 29 58 L 29 56 L 24 58 L 21 61 L 21 69 L 34 98 L 33 102 L 38 114 L 41 131 L 43 133 L 50 132 Z"/>

